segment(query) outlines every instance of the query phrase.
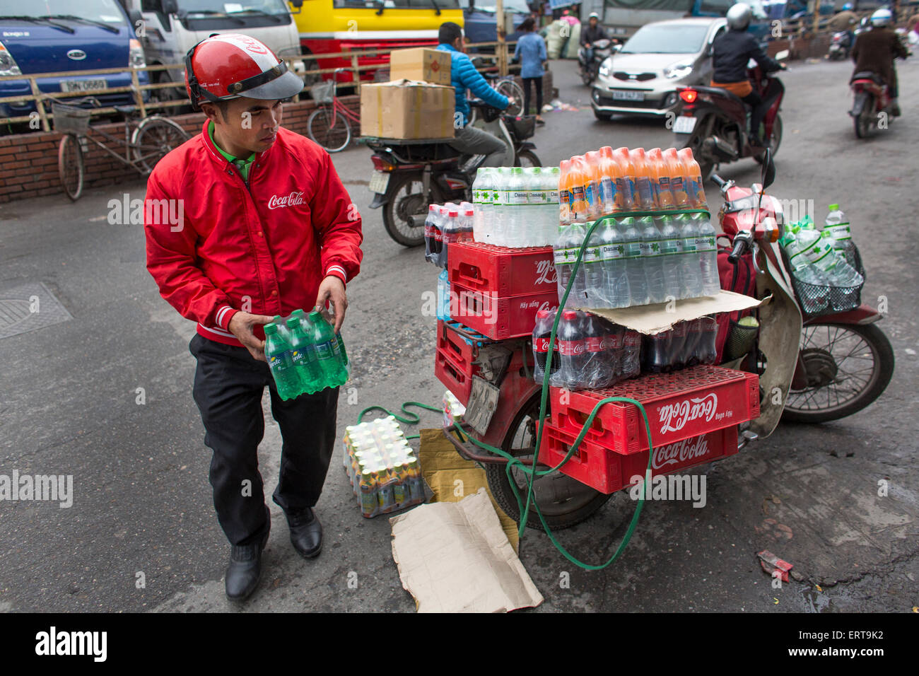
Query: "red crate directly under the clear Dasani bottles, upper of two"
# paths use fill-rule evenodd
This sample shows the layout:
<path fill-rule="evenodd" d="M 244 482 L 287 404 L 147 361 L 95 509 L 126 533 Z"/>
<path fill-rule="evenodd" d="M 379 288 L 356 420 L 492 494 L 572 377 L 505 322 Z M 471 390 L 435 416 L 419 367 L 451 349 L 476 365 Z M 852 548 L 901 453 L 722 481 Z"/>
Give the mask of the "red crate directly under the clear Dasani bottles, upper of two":
<path fill-rule="evenodd" d="M 447 274 L 450 284 L 499 297 L 557 292 L 551 246 L 451 244 Z"/>

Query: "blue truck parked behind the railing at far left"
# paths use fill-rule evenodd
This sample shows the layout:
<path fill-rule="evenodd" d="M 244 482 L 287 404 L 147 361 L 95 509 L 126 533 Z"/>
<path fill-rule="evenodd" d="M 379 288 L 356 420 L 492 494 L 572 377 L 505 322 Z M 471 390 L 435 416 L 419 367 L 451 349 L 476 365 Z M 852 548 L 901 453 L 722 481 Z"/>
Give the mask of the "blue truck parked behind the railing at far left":
<path fill-rule="evenodd" d="M 39 90 L 72 93 L 74 98 L 92 89 L 131 86 L 130 68 L 145 64 L 134 27 L 117 0 L 0 0 L 0 75 L 62 73 L 39 78 Z M 125 71 L 66 74 L 102 68 Z M 138 73 L 138 79 L 142 85 L 149 82 L 146 71 Z M 0 80 L 0 98 L 31 94 L 28 80 Z M 134 102 L 130 91 L 93 96 L 106 107 Z M 0 118 L 27 116 L 35 110 L 34 101 L 0 102 Z"/>

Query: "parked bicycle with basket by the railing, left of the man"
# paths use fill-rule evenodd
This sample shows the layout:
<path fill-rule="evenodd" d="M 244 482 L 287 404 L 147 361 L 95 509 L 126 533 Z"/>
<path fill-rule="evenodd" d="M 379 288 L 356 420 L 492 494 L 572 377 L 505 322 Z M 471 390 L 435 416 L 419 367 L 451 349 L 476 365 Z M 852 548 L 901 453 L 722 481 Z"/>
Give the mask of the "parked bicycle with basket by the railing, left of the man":
<path fill-rule="evenodd" d="M 99 108 L 100 103 L 96 97 L 86 97 L 72 103 L 89 103 L 94 108 Z M 95 143 L 108 155 L 117 159 L 121 164 L 130 166 L 142 176 L 146 176 L 156 163 L 173 148 L 178 147 L 191 138 L 173 120 L 167 120 L 161 115 L 148 115 L 138 121 L 131 132 L 131 117 L 136 112 L 136 106 L 115 106 L 124 116 L 124 140 L 103 132 L 89 124 L 90 110 L 74 105 L 66 105 L 56 101 L 51 102 L 51 113 L 54 116 L 54 131 L 63 132 L 61 144 L 58 147 L 58 175 L 61 185 L 72 201 L 80 199 L 83 194 L 83 179 L 85 175 L 84 152 L 88 142 Z M 106 143 L 124 147 L 122 157 L 106 143 L 90 135 L 99 134 Z"/>

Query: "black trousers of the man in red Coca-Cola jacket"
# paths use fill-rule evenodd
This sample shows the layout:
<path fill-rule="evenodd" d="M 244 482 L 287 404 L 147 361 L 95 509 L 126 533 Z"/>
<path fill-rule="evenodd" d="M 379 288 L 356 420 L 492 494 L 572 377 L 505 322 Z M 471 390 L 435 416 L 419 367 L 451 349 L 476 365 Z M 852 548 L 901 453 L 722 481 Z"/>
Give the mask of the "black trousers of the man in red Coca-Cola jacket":
<path fill-rule="evenodd" d="M 281 467 L 274 500 L 301 510 L 319 500 L 335 446 L 338 388 L 282 401 L 264 361 L 245 348 L 195 335 L 188 344 L 198 360 L 193 394 L 204 423 L 204 443 L 214 452 L 210 485 L 214 509 L 230 544 L 257 542 L 269 527 L 258 444 L 265 434 L 262 395 L 281 430 Z"/>

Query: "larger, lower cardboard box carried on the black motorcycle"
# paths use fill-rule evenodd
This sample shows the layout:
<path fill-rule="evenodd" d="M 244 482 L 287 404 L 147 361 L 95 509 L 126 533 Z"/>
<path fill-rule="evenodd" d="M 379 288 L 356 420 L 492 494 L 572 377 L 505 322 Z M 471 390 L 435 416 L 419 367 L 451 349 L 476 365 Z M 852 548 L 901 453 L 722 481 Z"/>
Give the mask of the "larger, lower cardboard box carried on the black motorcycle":
<path fill-rule="evenodd" d="M 398 80 L 360 87 L 360 133 L 386 139 L 453 138 L 456 90 Z"/>

